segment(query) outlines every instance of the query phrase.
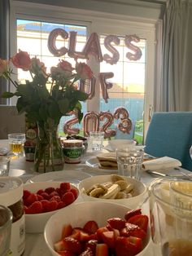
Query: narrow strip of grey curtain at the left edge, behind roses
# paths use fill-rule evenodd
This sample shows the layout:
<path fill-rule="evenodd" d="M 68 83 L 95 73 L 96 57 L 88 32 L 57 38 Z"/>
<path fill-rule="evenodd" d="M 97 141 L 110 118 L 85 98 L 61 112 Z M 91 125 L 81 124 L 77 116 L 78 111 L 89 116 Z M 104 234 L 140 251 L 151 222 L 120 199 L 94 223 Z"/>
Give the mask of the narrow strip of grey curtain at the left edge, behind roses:
<path fill-rule="evenodd" d="M 9 0 L 0 1 L 0 59 L 9 59 Z M 2 99 L 3 91 L 8 90 L 7 81 L 0 78 L 0 104 L 7 104 L 7 99 Z"/>

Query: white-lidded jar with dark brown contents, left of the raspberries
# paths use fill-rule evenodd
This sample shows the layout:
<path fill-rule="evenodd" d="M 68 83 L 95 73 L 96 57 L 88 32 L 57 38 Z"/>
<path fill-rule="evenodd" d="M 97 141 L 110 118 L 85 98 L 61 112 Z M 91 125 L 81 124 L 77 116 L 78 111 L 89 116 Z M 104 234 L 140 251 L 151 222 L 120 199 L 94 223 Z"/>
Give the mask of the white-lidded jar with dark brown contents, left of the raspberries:
<path fill-rule="evenodd" d="M 15 177 L 0 178 L 0 204 L 7 206 L 12 214 L 11 224 L 11 255 L 24 254 L 25 218 L 23 204 L 23 182 Z"/>

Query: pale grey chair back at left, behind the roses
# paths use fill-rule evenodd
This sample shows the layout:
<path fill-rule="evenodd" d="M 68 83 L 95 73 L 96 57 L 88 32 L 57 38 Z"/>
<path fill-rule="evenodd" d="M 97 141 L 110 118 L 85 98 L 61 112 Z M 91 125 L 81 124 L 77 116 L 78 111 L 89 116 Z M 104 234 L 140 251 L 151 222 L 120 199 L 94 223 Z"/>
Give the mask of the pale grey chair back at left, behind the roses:
<path fill-rule="evenodd" d="M 8 134 L 25 132 L 25 115 L 19 115 L 15 106 L 0 106 L 0 139 Z"/>

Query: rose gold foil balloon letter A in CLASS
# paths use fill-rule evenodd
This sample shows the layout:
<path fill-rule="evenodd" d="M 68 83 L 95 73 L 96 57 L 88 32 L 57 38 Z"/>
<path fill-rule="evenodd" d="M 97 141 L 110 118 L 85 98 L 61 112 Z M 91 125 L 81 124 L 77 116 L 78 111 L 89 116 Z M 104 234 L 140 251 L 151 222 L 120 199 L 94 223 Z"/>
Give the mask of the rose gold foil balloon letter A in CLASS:
<path fill-rule="evenodd" d="M 103 61 L 102 50 L 101 50 L 97 33 L 91 33 L 88 41 L 85 44 L 83 53 L 85 54 L 86 59 L 89 59 L 88 55 L 94 55 L 94 57 L 96 58 L 96 60 L 98 60 L 98 62 Z"/>

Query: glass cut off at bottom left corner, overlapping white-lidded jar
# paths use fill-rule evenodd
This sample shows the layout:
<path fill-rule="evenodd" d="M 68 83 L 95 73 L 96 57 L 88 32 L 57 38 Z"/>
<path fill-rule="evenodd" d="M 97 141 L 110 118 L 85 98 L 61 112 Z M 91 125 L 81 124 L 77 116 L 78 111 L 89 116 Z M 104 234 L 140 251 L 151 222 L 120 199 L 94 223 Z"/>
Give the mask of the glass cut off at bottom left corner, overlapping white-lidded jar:
<path fill-rule="evenodd" d="M 12 213 L 6 206 L 0 205 L 0 255 L 9 254 L 11 242 Z"/>

